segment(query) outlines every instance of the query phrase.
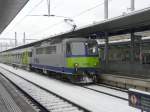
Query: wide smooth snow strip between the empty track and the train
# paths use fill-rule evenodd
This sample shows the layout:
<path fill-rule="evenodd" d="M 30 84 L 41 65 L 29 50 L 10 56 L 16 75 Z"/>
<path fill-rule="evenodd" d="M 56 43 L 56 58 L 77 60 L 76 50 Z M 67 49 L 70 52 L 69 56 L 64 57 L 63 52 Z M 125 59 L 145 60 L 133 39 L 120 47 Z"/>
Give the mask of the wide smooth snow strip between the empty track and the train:
<path fill-rule="evenodd" d="M 141 112 L 138 109 L 128 106 L 128 102 L 100 94 L 76 85 L 64 83 L 55 79 L 44 77 L 37 73 L 28 72 L 22 69 L 14 69 L 11 66 L 0 64 L 0 66 L 61 95 L 68 100 L 75 102 L 92 112 Z"/>

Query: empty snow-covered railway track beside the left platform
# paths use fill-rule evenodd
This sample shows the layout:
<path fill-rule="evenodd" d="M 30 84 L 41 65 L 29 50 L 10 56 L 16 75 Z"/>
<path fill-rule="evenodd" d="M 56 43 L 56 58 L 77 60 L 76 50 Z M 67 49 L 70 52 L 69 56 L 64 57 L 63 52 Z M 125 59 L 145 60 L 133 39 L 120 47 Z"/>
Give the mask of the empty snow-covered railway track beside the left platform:
<path fill-rule="evenodd" d="M 89 110 L 59 96 L 23 77 L 0 67 L 2 75 L 30 96 L 43 108 L 42 112 L 89 112 Z"/>

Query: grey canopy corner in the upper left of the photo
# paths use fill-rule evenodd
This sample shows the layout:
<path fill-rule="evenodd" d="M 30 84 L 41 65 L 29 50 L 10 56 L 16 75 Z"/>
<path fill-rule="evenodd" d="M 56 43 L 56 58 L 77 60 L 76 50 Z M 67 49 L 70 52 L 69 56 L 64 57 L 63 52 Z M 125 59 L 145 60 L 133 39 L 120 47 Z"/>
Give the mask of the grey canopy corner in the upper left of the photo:
<path fill-rule="evenodd" d="M 0 0 L 0 33 L 2 33 L 28 1 Z"/>

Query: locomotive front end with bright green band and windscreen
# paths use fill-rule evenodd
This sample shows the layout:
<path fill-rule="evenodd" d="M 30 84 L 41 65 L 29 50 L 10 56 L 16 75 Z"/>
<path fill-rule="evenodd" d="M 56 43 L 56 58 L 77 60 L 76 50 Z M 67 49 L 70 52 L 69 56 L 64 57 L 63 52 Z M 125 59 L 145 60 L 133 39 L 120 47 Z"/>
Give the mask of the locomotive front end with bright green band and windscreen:
<path fill-rule="evenodd" d="M 74 39 L 66 43 L 66 65 L 72 73 L 70 80 L 75 83 L 96 81 L 100 67 L 96 40 Z"/>

